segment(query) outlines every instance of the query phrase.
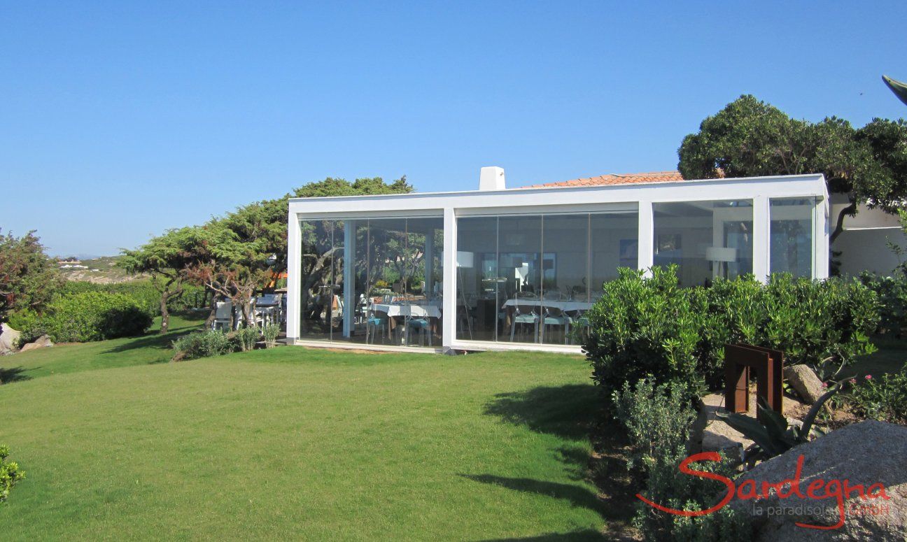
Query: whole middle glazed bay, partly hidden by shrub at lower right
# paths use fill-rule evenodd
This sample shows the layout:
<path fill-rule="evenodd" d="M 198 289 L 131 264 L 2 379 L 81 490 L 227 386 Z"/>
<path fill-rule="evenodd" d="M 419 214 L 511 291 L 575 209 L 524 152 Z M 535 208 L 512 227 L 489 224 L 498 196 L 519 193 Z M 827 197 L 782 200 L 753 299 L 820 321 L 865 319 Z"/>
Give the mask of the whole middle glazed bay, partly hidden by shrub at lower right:
<path fill-rule="evenodd" d="M 460 340 L 572 344 L 604 280 L 638 266 L 636 210 L 457 219 Z"/>

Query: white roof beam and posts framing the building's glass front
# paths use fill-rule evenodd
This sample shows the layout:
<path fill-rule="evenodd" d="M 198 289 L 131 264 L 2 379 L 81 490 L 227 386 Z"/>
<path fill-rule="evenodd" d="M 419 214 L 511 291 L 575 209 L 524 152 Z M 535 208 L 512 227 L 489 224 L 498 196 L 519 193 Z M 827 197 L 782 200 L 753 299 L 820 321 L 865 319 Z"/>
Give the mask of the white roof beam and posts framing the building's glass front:
<path fill-rule="evenodd" d="M 444 314 L 456 310 L 456 218 L 476 215 L 591 212 L 639 209 L 639 269 L 653 261 L 652 204 L 715 199 L 754 200 L 754 258 L 756 276 L 766 279 L 769 269 L 769 198 L 816 198 L 814 277 L 828 276 L 828 194 L 822 175 L 748 179 L 709 179 L 576 188 L 506 189 L 435 192 L 378 196 L 293 198 L 289 200 L 287 336 L 299 336 L 298 276 L 299 220 L 444 217 Z M 820 218 L 821 216 L 821 218 Z M 444 347 L 456 349 L 533 349 L 579 352 L 579 346 L 465 342 L 455 339 L 455 318 L 443 319 Z M 322 343 L 323 344 L 323 343 Z M 361 345 L 359 345 L 361 347 Z"/>

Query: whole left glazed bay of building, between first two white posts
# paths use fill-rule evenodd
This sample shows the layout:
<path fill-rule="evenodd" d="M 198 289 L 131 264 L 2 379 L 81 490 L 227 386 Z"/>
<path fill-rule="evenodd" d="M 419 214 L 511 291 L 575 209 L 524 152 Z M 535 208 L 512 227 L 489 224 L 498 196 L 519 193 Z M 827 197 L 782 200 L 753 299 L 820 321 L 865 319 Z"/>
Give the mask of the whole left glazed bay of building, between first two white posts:
<path fill-rule="evenodd" d="M 441 345 L 443 218 L 303 220 L 300 232 L 300 338 Z"/>

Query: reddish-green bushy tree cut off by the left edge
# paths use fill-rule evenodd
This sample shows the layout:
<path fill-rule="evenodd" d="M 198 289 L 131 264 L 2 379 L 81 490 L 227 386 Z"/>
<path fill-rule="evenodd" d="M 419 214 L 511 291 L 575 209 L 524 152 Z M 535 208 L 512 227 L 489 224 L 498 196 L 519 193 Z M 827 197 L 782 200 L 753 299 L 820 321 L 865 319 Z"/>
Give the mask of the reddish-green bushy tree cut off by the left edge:
<path fill-rule="evenodd" d="M 41 311 L 63 284 L 56 262 L 34 231 L 0 235 L 0 320 L 21 310 Z"/>

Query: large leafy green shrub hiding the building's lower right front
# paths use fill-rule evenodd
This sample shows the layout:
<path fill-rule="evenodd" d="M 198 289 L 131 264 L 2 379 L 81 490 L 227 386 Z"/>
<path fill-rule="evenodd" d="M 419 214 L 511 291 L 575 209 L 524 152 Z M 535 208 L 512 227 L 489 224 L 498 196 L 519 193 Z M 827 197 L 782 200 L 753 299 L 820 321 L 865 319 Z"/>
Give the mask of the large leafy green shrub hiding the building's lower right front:
<path fill-rule="evenodd" d="M 878 302 L 855 280 L 778 275 L 766 286 L 743 276 L 681 288 L 676 266 L 654 267 L 649 278 L 635 269 L 619 272 L 587 313 L 583 340 L 592 378 L 607 397 L 648 374 L 657 382 L 687 382 L 694 394 L 717 390 L 725 344 L 776 348 L 787 363 L 806 363 L 824 377 L 826 358 L 837 367 L 873 352 Z"/>

